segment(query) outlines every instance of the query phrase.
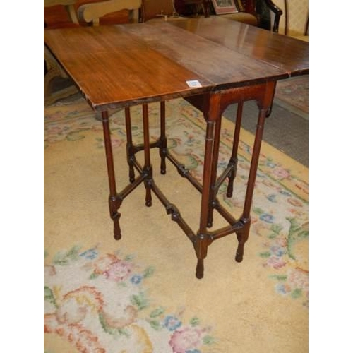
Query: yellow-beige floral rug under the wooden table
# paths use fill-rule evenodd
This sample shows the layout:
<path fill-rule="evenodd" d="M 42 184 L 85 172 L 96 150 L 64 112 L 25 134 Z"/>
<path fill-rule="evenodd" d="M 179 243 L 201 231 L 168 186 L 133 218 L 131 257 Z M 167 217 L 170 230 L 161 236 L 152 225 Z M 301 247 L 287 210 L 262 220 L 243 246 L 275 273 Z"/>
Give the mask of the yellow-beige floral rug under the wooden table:
<path fill-rule="evenodd" d="M 150 104 L 149 112 L 150 136 L 157 138 L 158 104 Z M 172 100 L 167 116 L 170 150 L 201 180 L 201 112 Z M 189 240 L 159 201 L 145 208 L 143 186 L 121 205 L 123 237 L 114 241 L 97 118 L 83 99 L 44 108 L 44 352 L 306 352 L 307 169 L 264 143 L 244 261 L 234 262 L 236 237 L 222 238 L 209 248 L 205 277 L 196 280 Z M 125 160 L 123 111 L 110 119 L 114 153 Z M 140 122 L 140 107 L 133 108 L 136 142 L 142 139 Z M 227 165 L 233 128 L 224 119 L 219 173 Z M 227 198 L 226 186 L 220 188 L 220 200 L 236 215 L 252 139 L 241 132 L 237 192 Z M 152 163 L 157 158 L 152 155 Z M 121 186 L 128 183 L 125 164 L 116 164 Z M 197 229 L 198 193 L 181 192 L 187 186 L 172 166 L 168 179 L 157 175 L 157 166 L 154 172 Z"/>

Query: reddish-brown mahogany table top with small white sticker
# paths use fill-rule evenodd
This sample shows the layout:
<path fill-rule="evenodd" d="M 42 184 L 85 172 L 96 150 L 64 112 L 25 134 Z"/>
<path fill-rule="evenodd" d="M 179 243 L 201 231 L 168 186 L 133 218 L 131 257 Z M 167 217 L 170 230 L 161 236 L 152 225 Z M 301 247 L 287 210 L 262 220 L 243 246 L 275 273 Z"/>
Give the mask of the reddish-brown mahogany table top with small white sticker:
<path fill-rule="evenodd" d="M 217 17 L 44 30 L 44 43 L 96 111 L 309 73 L 307 42 Z"/>

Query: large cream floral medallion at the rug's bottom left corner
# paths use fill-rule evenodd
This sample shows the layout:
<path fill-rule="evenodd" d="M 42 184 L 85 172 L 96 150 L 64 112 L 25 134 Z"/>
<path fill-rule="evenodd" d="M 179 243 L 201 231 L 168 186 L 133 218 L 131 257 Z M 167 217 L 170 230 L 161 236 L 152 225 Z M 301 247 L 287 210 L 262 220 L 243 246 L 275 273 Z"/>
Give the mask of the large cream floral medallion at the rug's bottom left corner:
<path fill-rule="evenodd" d="M 150 305 L 144 283 L 154 271 L 97 247 L 56 253 L 44 265 L 44 333 L 82 353 L 202 353 L 210 327 Z"/>

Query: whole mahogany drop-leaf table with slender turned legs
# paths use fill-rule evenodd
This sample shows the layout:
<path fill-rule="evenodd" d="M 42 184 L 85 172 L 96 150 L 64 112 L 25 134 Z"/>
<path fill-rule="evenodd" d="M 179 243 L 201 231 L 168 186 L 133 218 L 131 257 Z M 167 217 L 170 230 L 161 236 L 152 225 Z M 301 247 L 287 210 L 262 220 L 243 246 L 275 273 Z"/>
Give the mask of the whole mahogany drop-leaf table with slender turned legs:
<path fill-rule="evenodd" d="M 222 18 L 48 30 L 44 33 L 44 40 L 92 109 L 102 112 L 114 237 L 121 237 L 121 203 L 143 182 L 145 204 L 152 204 L 153 192 L 167 214 L 191 240 L 197 257 L 196 277 L 203 277 L 208 246 L 229 234 L 237 234 L 235 259 L 242 261 L 244 244 L 249 237 L 251 201 L 265 117 L 273 103 L 277 80 L 309 73 L 308 44 Z M 190 88 L 186 80 L 198 80 L 201 87 Z M 205 117 L 202 184 L 193 179 L 167 149 L 165 119 L 168 117 L 165 116 L 164 101 L 176 97 L 184 97 L 201 109 Z M 232 196 L 231 184 L 237 173 L 241 108 L 246 100 L 255 100 L 259 112 L 244 207 L 240 217 L 236 218 L 217 200 L 217 191 L 220 184 L 228 179 L 227 196 Z M 148 133 L 149 102 L 161 102 L 161 136 L 157 143 L 150 143 Z M 217 177 L 222 112 L 232 103 L 239 106 L 234 146 L 227 169 Z M 136 104 L 143 105 L 144 141 L 139 146 L 133 145 L 129 132 L 128 107 Z M 118 107 L 126 108 L 126 155 L 130 179 L 130 184 L 119 192 L 116 189 L 107 115 L 109 109 Z M 181 210 L 155 184 L 150 148 L 160 149 L 162 174 L 166 172 L 167 159 L 201 193 L 197 232 L 189 227 L 181 216 Z M 136 153 L 142 150 L 145 157 L 143 166 L 135 158 Z M 138 172 L 138 177 L 134 171 Z M 215 210 L 229 225 L 209 229 L 213 225 Z"/>

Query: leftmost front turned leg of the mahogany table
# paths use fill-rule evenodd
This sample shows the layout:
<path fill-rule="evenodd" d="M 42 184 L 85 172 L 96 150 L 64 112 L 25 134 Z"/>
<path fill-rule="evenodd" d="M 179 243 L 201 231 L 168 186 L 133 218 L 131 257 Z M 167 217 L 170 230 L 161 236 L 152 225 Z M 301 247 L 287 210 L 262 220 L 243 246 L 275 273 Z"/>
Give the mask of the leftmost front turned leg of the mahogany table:
<path fill-rule="evenodd" d="M 109 117 L 107 112 L 102 112 L 102 124 L 104 133 L 105 156 L 107 159 L 107 172 L 109 179 L 109 212 L 114 222 L 114 238 L 121 238 L 121 229 L 119 225 L 121 198 L 116 193 L 116 182 L 114 173 L 114 159 L 112 152 L 112 140 L 110 138 Z"/>

